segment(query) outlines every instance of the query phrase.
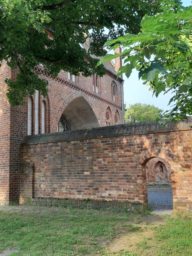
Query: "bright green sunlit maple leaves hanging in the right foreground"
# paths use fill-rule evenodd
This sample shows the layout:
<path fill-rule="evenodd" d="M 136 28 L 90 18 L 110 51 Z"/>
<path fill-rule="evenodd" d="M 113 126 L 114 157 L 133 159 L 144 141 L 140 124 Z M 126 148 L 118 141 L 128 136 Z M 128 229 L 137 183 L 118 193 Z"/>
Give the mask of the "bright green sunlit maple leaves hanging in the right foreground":
<path fill-rule="evenodd" d="M 160 92 L 172 92 L 172 108 L 164 117 L 172 121 L 186 119 L 192 115 L 192 6 L 177 6 L 176 10 L 168 6 L 156 15 L 146 14 L 140 25 L 137 35 L 127 33 L 108 41 L 106 46 L 110 49 L 121 44 L 124 51 L 107 54 L 98 65 L 122 56 L 124 66 L 118 76 L 125 73 L 129 77 L 136 68 L 139 79 L 149 85 L 156 97 Z"/>

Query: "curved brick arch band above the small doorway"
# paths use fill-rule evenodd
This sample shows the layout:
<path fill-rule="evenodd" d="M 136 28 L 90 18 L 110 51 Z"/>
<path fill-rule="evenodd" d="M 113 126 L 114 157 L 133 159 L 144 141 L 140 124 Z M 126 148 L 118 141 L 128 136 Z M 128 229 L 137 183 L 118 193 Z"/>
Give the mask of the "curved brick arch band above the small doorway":
<path fill-rule="evenodd" d="M 161 157 L 170 165 L 177 161 L 175 156 L 172 155 L 170 152 L 161 148 L 151 148 L 141 152 L 140 155 L 135 159 L 135 163 L 139 165 L 144 165 L 146 164 L 147 159 L 151 159 L 154 157 Z"/>

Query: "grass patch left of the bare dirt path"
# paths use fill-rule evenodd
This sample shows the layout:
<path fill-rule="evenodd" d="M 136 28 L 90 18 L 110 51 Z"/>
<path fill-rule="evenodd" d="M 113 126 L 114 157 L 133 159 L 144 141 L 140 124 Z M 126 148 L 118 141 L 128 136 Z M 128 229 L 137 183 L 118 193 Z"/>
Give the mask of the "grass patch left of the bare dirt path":
<path fill-rule="evenodd" d="M 18 247 L 12 255 L 98 255 L 122 232 L 136 232 L 139 214 L 71 207 L 20 205 L 0 207 L 0 252 Z"/>

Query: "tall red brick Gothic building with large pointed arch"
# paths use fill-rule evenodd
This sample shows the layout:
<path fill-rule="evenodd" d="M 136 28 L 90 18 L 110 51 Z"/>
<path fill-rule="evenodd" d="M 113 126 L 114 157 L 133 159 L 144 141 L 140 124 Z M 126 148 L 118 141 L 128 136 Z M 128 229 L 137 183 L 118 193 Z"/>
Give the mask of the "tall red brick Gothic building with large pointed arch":
<path fill-rule="evenodd" d="M 86 46 L 86 45 L 85 45 Z M 118 49 L 120 50 L 120 49 Z M 122 124 L 123 79 L 116 79 L 121 60 L 105 64 L 103 77 L 73 76 L 60 72 L 47 76 L 48 96 L 37 91 L 25 106 L 8 103 L 5 78 L 15 79 L 16 71 L 5 62 L 0 68 L 0 203 L 18 200 L 21 142 L 27 135 Z"/>

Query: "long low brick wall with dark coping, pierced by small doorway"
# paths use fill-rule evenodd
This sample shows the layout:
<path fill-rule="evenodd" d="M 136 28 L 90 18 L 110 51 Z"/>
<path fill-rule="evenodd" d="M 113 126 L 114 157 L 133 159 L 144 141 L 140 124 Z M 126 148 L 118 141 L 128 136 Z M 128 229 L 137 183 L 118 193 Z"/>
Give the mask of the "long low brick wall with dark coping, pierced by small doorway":
<path fill-rule="evenodd" d="M 146 122 L 28 136 L 22 144 L 22 164 L 34 166 L 34 183 L 22 176 L 21 188 L 27 186 L 34 197 L 147 205 L 145 166 L 160 157 L 170 164 L 174 211 L 191 212 L 191 124 L 190 117 L 166 127 Z M 21 202 L 31 199 L 25 189 Z"/>

